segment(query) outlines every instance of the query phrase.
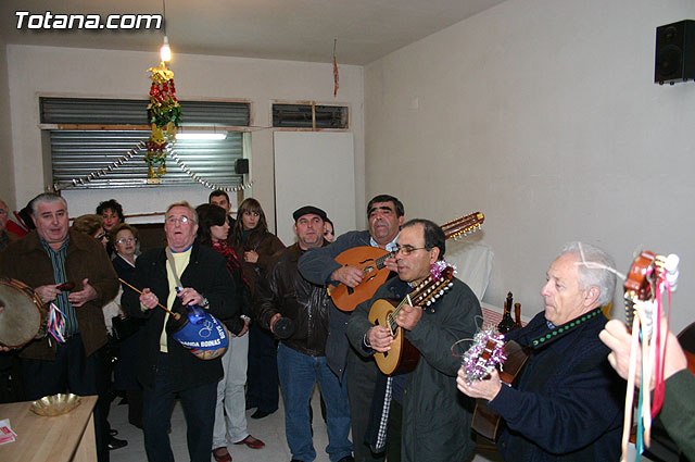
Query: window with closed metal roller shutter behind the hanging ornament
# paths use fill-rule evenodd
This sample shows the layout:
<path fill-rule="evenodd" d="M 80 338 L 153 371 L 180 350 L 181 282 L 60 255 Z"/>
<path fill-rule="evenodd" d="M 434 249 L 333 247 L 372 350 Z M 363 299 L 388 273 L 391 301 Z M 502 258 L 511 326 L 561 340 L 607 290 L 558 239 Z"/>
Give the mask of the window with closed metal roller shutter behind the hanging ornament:
<path fill-rule="evenodd" d="M 148 101 L 76 98 L 41 98 L 41 128 L 49 132 L 53 184 L 60 189 L 147 186 L 148 166 L 140 141 L 150 137 Z M 250 125 L 247 102 L 182 101 L 182 130 L 197 128 L 225 134 L 224 139 L 179 139 L 167 173 L 157 186 L 187 186 L 207 182 L 219 187 L 243 183 L 236 161 L 244 157 Z M 124 129 L 119 129 L 124 128 Z M 136 150 L 125 161 L 128 151 Z M 118 162 L 121 160 L 121 162 Z M 105 171 L 89 182 L 79 182 Z M 187 171 L 186 171 L 187 170 Z M 195 175 L 198 179 L 192 177 Z M 77 179 L 77 182 L 76 182 Z"/>

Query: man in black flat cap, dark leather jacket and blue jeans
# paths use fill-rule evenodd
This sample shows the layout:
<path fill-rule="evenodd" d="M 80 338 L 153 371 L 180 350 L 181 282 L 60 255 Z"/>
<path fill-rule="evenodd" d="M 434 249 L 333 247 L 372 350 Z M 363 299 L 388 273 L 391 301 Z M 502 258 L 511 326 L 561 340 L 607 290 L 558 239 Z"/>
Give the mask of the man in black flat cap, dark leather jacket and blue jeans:
<path fill-rule="evenodd" d="M 293 461 L 313 461 L 308 408 L 318 382 L 327 408 L 328 447 L 331 462 L 350 462 L 352 444 L 345 385 L 326 364 L 330 299 L 321 285 L 304 279 L 298 270 L 300 257 L 324 241 L 326 212 L 305 205 L 293 214 L 296 242 L 275 254 L 267 276 L 256 287 L 254 305 L 261 326 L 280 338 L 278 373 L 285 401 L 287 442 Z"/>

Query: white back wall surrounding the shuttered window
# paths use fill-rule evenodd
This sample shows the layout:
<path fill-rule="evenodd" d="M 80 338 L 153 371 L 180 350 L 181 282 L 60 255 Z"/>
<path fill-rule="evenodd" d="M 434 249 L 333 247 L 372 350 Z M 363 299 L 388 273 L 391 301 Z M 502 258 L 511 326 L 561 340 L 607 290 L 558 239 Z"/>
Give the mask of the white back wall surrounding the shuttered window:
<path fill-rule="evenodd" d="M 58 43 L 56 43 L 58 45 Z M 175 49 L 175 43 L 172 43 Z M 176 50 L 174 50 L 176 51 Z M 9 86 L 14 146 L 16 202 L 26 204 L 43 190 L 50 171 L 43 168 L 41 137 L 38 129 L 38 97 L 78 96 L 101 98 L 147 98 L 148 67 L 159 64 L 159 51 L 115 51 L 60 47 L 9 46 Z M 316 100 L 338 102 L 351 108 L 355 136 L 356 200 L 364 203 L 364 120 L 363 68 L 339 65 L 340 89 L 333 98 L 332 63 L 253 60 L 206 55 L 175 54 L 169 66 L 175 73 L 179 99 L 248 99 L 252 101 L 253 125 L 251 172 L 252 195 L 266 211 L 274 227 L 273 136 L 270 101 Z M 186 114 L 184 114 L 185 116 Z M 50 164 L 49 164 L 50 165 Z M 169 167 L 176 168 L 170 161 Z M 92 210 L 99 200 L 114 197 L 126 213 L 163 211 L 166 204 L 188 199 L 206 200 L 201 187 L 184 190 L 156 188 L 99 190 L 71 195 L 71 214 Z M 364 205 L 356 211 L 364 215 Z"/>

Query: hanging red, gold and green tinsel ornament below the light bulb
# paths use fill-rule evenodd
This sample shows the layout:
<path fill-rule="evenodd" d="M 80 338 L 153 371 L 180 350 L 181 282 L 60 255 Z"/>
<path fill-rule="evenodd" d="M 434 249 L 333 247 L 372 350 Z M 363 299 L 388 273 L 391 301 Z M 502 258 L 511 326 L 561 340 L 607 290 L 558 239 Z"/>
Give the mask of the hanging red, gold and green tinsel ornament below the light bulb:
<path fill-rule="evenodd" d="M 174 73 L 162 61 L 157 67 L 148 70 L 152 73 L 148 120 L 152 135 L 147 141 L 148 178 L 161 178 L 166 174 L 166 147 L 176 142 L 176 132 L 181 120 L 181 105 L 176 99 Z"/>

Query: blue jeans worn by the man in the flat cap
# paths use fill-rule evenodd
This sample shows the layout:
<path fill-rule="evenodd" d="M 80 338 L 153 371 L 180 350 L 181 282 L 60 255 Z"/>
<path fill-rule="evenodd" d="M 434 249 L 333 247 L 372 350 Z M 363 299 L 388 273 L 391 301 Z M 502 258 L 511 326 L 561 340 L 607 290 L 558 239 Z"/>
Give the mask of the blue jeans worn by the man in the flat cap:
<path fill-rule="evenodd" d="M 280 342 L 278 374 L 285 402 L 285 427 L 292 459 L 312 462 L 316 451 L 312 441 L 308 405 L 314 383 L 318 380 L 327 411 L 328 446 L 331 462 L 352 454 L 348 390 L 326 365 L 326 357 L 309 357 Z"/>

